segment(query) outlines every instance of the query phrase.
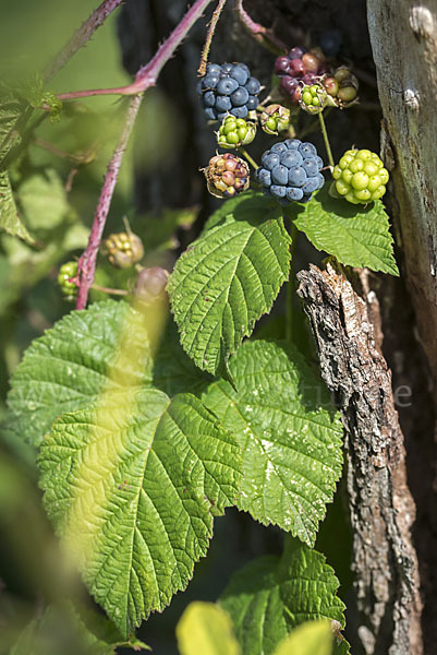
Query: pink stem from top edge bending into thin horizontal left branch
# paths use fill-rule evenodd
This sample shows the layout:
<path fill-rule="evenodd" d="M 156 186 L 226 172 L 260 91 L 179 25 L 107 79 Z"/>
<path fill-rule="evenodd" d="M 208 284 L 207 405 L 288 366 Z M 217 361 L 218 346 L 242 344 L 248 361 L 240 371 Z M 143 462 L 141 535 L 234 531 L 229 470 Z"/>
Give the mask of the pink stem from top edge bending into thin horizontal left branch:
<path fill-rule="evenodd" d="M 213 0 L 196 0 L 191 9 L 183 16 L 179 25 L 177 25 L 169 36 L 156 51 L 156 55 L 146 66 L 143 66 L 135 75 L 134 82 L 126 86 L 117 86 L 113 88 L 92 88 L 87 91 L 73 91 L 70 93 L 61 93 L 57 95 L 60 100 L 71 100 L 73 98 L 85 98 L 95 95 L 136 95 L 145 92 L 150 86 L 155 86 L 165 64 L 171 59 L 174 50 L 185 38 L 187 32 L 193 24 L 202 15 L 205 8 Z M 45 107 L 47 109 L 47 107 Z"/>

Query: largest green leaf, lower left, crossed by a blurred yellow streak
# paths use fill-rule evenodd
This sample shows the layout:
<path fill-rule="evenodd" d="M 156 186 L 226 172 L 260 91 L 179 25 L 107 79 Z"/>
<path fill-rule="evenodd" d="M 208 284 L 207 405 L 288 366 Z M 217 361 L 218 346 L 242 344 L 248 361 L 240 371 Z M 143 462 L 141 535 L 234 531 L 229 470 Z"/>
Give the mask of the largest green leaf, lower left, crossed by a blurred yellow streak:
<path fill-rule="evenodd" d="M 62 415 L 38 457 L 44 503 L 124 636 L 184 590 L 241 479 L 232 436 L 191 394 L 106 394 Z"/>

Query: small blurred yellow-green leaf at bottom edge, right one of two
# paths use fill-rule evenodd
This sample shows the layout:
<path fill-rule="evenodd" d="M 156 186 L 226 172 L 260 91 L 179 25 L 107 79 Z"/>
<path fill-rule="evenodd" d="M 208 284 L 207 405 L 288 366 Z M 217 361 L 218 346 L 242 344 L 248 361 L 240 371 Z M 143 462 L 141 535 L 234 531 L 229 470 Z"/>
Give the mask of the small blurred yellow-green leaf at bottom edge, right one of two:
<path fill-rule="evenodd" d="M 275 655 L 331 655 L 333 634 L 329 621 L 307 621 L 287 636 Z"/>

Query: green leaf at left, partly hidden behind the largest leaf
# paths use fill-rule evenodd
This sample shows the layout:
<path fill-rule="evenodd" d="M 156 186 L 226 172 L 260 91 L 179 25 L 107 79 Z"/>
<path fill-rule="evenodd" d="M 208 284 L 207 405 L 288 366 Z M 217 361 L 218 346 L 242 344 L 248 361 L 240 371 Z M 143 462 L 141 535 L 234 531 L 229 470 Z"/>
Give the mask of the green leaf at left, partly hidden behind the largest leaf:
<path fill-rule="evenodd" d="M 172 396 L 198 392 L 208 381 L 183 353 L 169 322 L 158 352 L 148 330 L 156 311 L 106 300 L 72 311 L 34 340 L 12 378 L 8 427 L 39 445 L 64 412 L 86 407 L 99 394 L 154 385 Z"/>

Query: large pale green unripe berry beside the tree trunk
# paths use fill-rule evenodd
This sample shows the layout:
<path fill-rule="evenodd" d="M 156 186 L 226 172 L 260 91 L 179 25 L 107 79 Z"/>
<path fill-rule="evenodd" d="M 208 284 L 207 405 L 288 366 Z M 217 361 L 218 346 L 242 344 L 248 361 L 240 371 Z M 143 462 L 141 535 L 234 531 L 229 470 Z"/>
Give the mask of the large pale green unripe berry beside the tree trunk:
<path fill-rule="evenodd" d="M 332 170 L 335 189 L 349 202 L 366 204 L 386 192 L 388 170 L 378 155 L 368 150 L 349 150 Z"/>

